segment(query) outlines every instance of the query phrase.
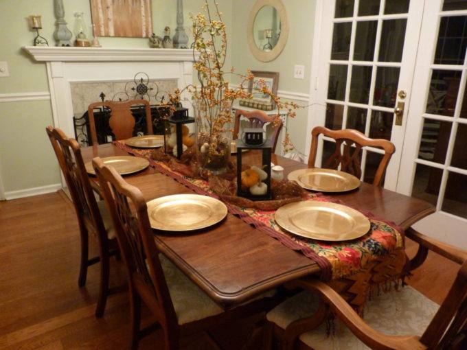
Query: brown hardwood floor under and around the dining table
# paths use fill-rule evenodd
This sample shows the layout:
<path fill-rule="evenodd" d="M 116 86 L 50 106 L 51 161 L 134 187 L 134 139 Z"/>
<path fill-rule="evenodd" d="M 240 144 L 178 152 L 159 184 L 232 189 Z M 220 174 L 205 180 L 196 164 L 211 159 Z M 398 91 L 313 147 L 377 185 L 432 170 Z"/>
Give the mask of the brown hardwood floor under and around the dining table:
<path fill-rule="evenodd" d="M 109 297 L 102 319 L 94 316 L 99 268 L 89 268 L 78 288 L 79 233 L 75 213 L 59 193 L 0 202 L 0 349 L 127 349 L 130 344 L 126 292 Z M 407 242 L 408 250 L 417 247 Z M 91 254 L 97 254 L 95 244 Z M 440 303 L 458 266 L 429 254 L 409 284 Z M 125 284 L 122 264 L 113 259 L 111 286 Z M 146 322 L 150 322 L 146 312 Z M 215 330 L 227 349 L 238 349 L 257 320 Z M 240 330 L 240 331 L 239 331 Z M 240 333 L 240 338 L 234 334 Z M 161 334 L 141 340 L 140 349 L 162 347 Z M 184 349 L 207 349 L 189 339 Z"/>

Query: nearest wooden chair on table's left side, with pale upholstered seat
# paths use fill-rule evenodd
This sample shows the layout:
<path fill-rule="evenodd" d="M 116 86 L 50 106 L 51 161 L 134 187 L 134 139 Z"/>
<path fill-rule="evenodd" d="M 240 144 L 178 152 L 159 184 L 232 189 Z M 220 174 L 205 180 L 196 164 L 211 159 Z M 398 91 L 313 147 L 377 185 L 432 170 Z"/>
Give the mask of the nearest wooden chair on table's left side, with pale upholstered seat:
<path fill-rule="evenodd" d="M 223 310 L 159 252 L 141 191 L 126 183 L 100 158 L 93 159 L 93 167 L 128 271 L 132 349 L 137 349 L 139 339 L 156 328 L 163 330 L 164 349 L 178 349 L 182 336 L 196 333 L 201 333 L 217 348 L 209 336 L 209 329 L 257 314 L 271 305 L 275 291 L 263 294 L 251 303 Z M 142 330 L 141 301 L 157 319 L 155 325 Z"/>

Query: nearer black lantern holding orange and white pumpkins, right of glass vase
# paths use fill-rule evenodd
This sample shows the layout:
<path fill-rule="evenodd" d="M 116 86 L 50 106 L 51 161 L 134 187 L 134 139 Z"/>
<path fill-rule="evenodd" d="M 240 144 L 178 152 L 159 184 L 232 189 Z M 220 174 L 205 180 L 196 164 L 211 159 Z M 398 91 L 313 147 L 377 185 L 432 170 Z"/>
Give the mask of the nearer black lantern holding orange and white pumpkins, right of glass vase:
<path fill-rule="evenodd" d="M 261 130 L 261 129 L 260 129 Z M 271 199 L 271 153 L 273 146 L 267 140 L 260 145 L 248 145 L 236 140 L 237 145 L 237 196 L 251 200 Z M 251 165 L 242 172 L 243 150 L 261 151 L 261 164 Z M 255 174 L 253 174 L 253 172 Z M 255 182 L 254 184 L 250 182 Z"/>

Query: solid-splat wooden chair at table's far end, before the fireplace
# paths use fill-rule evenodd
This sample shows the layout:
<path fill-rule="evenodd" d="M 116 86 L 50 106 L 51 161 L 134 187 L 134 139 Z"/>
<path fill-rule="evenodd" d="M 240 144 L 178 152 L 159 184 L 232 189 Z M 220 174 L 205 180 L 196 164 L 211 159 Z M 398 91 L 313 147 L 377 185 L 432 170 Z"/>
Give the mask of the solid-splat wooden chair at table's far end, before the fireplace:
<path fill-rule="evenodd" d="M 124 140 L 133 137 L 133 130 L 135 128 L 135 117 L 131 114 L 132 106 L 144 106 L 146 114 L 146 130 L 148 135 L 152 135 L 152 117 L 151 106 L 147 100 L 128 100 L 128 101 L 104 101 L 95 102 L 88 107 L 89 126 L 91 130 L 91 141 L 93 145 L 98 144 L 98 134 L 95 128 L 94 109 L 98 107 L 109 108 L 111 117 L 109 119 L 109 126 L 115 140 Z"/>

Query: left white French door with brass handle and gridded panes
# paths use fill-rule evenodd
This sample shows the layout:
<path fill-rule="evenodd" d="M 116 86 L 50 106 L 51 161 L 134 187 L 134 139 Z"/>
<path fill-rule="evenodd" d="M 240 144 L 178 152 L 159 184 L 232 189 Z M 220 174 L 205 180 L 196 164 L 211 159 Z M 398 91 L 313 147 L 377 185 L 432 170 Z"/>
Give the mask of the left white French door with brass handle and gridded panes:
<path fill-rule="evenodd" d="M 388 189 L 396 189 L 398 180 L 423 5 L 424 0 L 321 1 L 309 126 L 352 128 L 394 143 Z M 332 140 L 324 139 L 318 162 L 333 150 Z M 382 157 L 382 150 L 363 150 L 362 180 L 372 182 Z"/>

